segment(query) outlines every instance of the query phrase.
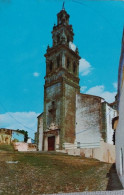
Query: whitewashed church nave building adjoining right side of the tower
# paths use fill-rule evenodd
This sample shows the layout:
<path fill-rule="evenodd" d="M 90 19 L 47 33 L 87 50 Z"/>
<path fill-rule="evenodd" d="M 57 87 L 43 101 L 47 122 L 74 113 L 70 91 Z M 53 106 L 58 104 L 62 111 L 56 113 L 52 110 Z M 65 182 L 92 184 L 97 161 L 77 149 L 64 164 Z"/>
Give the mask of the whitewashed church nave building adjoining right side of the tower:
<path fill-rule="evenodd" d="M 112 119 L 117 111 L 103 98 L 77 94 L 76 143 L 80 148 L 100 147 L 101 139 L 113 145 Z"/>

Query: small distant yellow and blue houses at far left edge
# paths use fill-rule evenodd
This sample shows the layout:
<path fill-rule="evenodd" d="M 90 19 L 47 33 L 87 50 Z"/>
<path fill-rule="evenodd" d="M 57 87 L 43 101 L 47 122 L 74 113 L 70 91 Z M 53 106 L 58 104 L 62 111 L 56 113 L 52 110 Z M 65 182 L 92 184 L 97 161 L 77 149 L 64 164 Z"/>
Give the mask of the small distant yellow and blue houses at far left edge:
<path fill-rule="evenodd" d="M 24 142 L 24 134 L 18 130 L 0 129 L 0 143 L 10 144 L 12 141 Z"/>

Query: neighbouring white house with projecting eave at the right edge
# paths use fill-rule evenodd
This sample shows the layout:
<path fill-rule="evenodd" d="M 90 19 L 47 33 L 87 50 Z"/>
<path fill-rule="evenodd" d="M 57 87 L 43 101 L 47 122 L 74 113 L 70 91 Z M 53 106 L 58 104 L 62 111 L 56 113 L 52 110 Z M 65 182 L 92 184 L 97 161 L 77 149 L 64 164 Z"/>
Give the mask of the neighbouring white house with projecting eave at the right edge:
<path fill-rule="evenodd" d="M 124 30 L 118 73 L 118 114 L 119 119 L 113 120 L 113 126 L 116 129 L 116 169 L 124 187 Z"/>

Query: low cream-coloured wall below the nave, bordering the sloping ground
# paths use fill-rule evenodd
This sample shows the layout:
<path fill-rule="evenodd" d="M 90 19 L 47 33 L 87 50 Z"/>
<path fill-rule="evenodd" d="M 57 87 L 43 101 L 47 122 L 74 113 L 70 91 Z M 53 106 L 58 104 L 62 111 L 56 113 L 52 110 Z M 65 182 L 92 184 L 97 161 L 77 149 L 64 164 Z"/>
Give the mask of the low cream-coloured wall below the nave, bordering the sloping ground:
<path fill-rule="evenodd" d="M 69 155 L 81 155 L 87 158 L 94 158 L 102 162 L 114 163 L 115 162 L 115 146 L 100 142 L 99 148 L 80 148 L 66 150 Z"/>

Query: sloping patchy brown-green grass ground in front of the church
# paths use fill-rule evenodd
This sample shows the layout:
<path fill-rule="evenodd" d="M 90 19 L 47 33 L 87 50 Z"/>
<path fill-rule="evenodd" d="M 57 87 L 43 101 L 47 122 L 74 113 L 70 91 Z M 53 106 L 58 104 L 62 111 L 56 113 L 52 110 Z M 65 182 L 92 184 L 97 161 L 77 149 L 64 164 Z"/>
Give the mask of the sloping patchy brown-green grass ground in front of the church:
<path fill-rule="evenodd" d="M 0 161 L 0 189 L 3 194 L 106 190 L 106 175 L 111 164 L 59 153 L 16 152 L 10 155 L 13 161 L 19 162 L 7 164 Z"/>

